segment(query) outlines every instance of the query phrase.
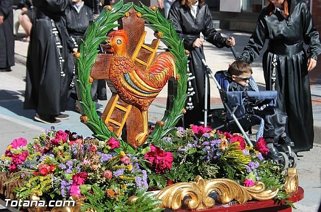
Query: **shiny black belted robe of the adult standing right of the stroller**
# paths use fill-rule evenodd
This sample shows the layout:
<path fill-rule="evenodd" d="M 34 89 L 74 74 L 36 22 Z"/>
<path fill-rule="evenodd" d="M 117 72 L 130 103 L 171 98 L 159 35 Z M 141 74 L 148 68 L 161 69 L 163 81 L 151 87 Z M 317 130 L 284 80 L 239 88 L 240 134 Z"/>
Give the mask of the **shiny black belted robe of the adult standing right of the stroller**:
<path fill-rule="evenodd" d="M 316 60 L 321 45 L 312 18 L 302 1 L 290 1 L 290 15 L 284 19 L 279 12 L 263 9 L 241 60 L 253 62 L 259 56 L 265 40 L 268 49 L 263 57 L 266 90 L 272 90 L 275 66 L 277 106 L 288 116 L 288 135 L 294 142 L 293 151 L 308 151 L 313 146 L 313 116 L 307 58 Z M 303 42 L 308 44 L 307 54 Z M 273 62 L 273 59 L 277 64 Z"/>

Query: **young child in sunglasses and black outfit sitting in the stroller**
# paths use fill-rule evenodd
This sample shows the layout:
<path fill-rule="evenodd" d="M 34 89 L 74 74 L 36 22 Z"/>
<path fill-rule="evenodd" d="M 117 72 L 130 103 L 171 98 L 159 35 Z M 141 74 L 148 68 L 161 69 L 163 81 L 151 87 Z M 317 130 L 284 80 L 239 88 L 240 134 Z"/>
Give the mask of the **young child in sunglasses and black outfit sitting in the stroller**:
<path fill-rule="evenodd" d="M 254 91 L 249 86 L 251 75 L 252 68 L 249 64 L 244 61 L 235 61 L 226 72 L 229 86 L 225 89 L 227 91 L 245 91 L 243 92 L 243 97 L 245 97 L 243 104 L 246 112 L 264 120 L 263 137 L 266 140 L 267 148 L 270 150 L 267 156 L 271 159 L 280 159 L 282 155 L 278 152 L 274 143 L 294 146 L 285 132 L 288 117 L 277 107 L 267 104 L 265 99 L 253 99 L 247 96 L 248 91 Z"/>

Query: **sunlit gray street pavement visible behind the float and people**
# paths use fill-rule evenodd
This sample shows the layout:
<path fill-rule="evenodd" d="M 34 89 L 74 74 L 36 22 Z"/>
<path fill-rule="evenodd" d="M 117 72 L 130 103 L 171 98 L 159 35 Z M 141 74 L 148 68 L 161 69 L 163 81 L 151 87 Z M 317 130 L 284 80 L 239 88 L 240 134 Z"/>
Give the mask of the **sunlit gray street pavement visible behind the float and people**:
<path fill-rule="evenodd" d="M 152 39 L 152 33 L 147 30 L 146 43 Z M 223 36 L 234 36 L 236 39 L 235 49 L 240 53 L 247 43 L 250 34 L 219 30 Z M 16 65 L 12 67 L 12 72 L 0 72 L 0 152 L 4 152 L 7 145 L 18 137 L 25 137 L 32 142 L 33 136 L 42 132 L 43 129 L 50 127 L 47 124 L 34 120 L 34 110 L 24 110 L 24 92 L 26 78 L 26 56 L 28 43 L 15 42 L 15 59 Z M 165 48 L 164 44 L 159 49 Z M 205 56 L 209 67 L 213 72 L 226 70 L 228 63 L 233 60 L 233 55 L 229 49 L 223 48 L 218 50 L 214 46 L 205 43 Z M 319 64 L 320 66 L 321 64 Z M 257 59 L 253 64 L 253 77 L 260 89 L 264 89 L 264 78 L 261 66 L 261 58 Z M 295 211 L 317 211 L 321 199 L 321 165 L 318 156 L 321 155 L 321 67 L 313 73 L 313 84 L 311 86 L 313 117 L 314 117 L 314 145 L 311 151 L 299 153 L 297 170 L 299 175 L 299 185 L 305 190 L 304 199 L 294 203 L 297 207 Z M 312 72 L 311 72 L 312 73 Z M 310 75 L 311 76 L 311 75 Z M 108 89 L 107 89 L 108 90 Z M 110 92 L 108 92 L 108 97 Z M 148 112 L 149 122 L 155 123 L 164 115 L 167 97 L 167 86 L 151 104 Z M 99 101 L 100 104 L 106 104 L 107 101 Z M 79 121 L 79 114 L 73 111 L 73 103 L 69 102 L 68 109 L 65 112 L 70 115 L 69 120 L 63 120 L 61 125 L 57 125 L 57 129 L 69 129 L 84 136 L 90 136 L 91 131 Z M 211 107 L 223 107 L 219 93 L 211 80 Z"/>

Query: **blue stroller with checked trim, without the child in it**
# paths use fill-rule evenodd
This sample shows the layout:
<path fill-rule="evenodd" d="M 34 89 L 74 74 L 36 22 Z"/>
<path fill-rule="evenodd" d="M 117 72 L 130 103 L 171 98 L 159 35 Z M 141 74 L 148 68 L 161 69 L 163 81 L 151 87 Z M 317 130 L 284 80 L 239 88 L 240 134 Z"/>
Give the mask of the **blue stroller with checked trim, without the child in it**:
<path fill-rule="evenodd" d="M 263 137 L 264 131 L 264 119 L 261 117 L 248 114 L 244 107 L 244 92 L 246 96 L 251 99 L 256 100 L 265 100 L 266 104 L 270 106 L 275 106 L 277 91 L 259 91 L 258 86 L 256 85 L 254 79 L 251 77 L 249 80 L 249 86 L 254 91 L 228 91 L 230 82 L 228 80 L 227 71 L 219 71 L 215 74 L 215 80 L 220 91 L 221 100 L 224 105 L 224 111 L 226 111 L 226 119 L 221 125 L 216 125 L 213 121 L 215 113 L 211 113 L 212 123 L 211 126 L 215 129 L 224 128 L 226 131 L 230 132 L 241 132 L 245 135 L 245 139 L 249 145 L 252 145 L 252 142 L 256 142 L 258 138 Z M 221 110 L 222 111 L 222 110 Z M 240 125 L 237 124 L 239 122 Z M 217 123 L 217 122 L 216 122 Z M 246 131 L 251 132 L 251 127 L 254 125 L 259 125 L 258 131 L 256 133 L 256 141 L 251 141 L 248 137 Z M 289 166 L 295 167 L 297 162 L 297 156 L 294 152 L 291 151 L 290 146 L 274 144 L 278 149 L 279 153 L 282 155 L 282 159 L 274 160 L 274 162 L 281 164 L 282 169 L 286 169 Z"/>

